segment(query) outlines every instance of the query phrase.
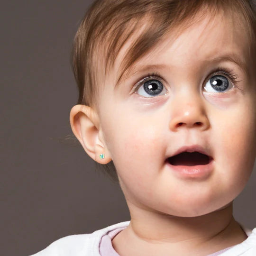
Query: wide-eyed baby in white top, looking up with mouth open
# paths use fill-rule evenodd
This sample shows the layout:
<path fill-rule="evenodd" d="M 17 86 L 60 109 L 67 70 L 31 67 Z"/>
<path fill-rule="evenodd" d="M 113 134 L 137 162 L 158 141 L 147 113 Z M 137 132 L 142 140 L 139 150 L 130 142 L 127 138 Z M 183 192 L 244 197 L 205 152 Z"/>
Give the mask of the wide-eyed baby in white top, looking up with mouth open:
<path fill-rule="evenodd" d="M 73 44 L 70 123 L 113 163 L 130 221 L 34 256 L 256 256 L 256 228 L 232 209 L 256 158 L 255 43 L 249 0 L 94 1 Z"/>

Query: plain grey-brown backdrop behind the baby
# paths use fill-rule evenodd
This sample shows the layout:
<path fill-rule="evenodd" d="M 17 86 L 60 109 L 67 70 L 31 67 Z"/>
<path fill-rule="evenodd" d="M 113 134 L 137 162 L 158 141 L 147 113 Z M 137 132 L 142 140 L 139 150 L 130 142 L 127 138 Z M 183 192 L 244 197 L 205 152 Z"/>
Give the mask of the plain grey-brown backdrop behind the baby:
<path fill-rule="evenodd" d="M 73 134 L 78 91 L 69 56 L 91 1 L 1 4 L 1 255 L 34 254 L 58 238 L 129 220 L 118 185 L 94 171 Z M 255 170 L 234 202 L 235 219 L 256 226 Z"/>

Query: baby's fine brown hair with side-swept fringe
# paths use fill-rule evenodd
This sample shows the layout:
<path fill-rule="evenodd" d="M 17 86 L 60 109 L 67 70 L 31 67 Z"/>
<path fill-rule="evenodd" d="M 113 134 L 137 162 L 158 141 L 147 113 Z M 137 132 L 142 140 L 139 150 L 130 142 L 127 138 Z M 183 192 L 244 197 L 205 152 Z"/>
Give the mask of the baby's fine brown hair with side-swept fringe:
<path fill-rule="evenodd" d="M 178 36 L 193 21 L 209 12 L 214 16 L 221 10 L 241 29 L 247 30 L 249 50 L 255 56 L 256 10 L 250 0 L 95 0 L 73 41 L 71 61 L 79 89 L 77 104 L 87 105 L 99 113 L 97 95 L 101 81 L 98 74 L 106 77 L 122 46 L 142 25 L 145 25 L 143 31 L 123 58 L 116 86 L 132 64 L 146 55 L 170 29 L 178 28 L 175 30 Z M 103 165 L 103 169 L 112 181 L 118 181 L 113 161 Z"/>

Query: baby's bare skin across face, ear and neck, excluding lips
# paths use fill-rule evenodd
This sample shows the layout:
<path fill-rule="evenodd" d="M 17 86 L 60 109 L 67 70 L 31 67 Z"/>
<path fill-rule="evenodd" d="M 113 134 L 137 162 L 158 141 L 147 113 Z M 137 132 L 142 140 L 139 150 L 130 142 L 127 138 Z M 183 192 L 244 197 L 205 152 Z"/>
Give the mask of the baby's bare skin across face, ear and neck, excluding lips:
<path fill-rule="evenodd" d="M 170 34 L 143 57 L 138 65 L 167 66 L 150 70 L 163 80 L 163 91 L 155 96 L 143 86 L 130 93 L 149 71 L 137 72 L 114 90 L 132 37 L 101 88 L 100 112 L 82 105 L 70 112 L 73 133 L 86 153 L 101 164 L 112 159 L 116 166 L 131 216 L 128 228 L 112 240 L 121 256 L 205 256 L 247 238 L 233 218 L 232 202 L 256 157 L 256 84 L 233 62 L 209 61 L 236 53 L 252 74 L 246 31 L 233 26 L 229 19 L 209 16 L 175 41 Z M 207 82 L 210 89 L 211 71 L 219 64 L 234 71 L 243 91 L 230 80 L 225 91 L 203 90 Z M 180 177 L 165 164 L 178 148 L 192 144 L 210 149 L 214 164 L 207 178 Z"/>

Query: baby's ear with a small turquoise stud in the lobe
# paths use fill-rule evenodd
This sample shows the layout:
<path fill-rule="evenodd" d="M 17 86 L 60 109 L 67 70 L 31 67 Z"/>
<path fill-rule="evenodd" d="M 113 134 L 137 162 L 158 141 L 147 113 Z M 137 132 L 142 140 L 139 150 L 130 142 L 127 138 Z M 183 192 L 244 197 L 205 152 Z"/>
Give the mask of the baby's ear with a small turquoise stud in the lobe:
<path fill-rule="evenodd" d="M 88 106 L 75 105 L 70 111 L 69 119 L 73 134 L 85 152 L 96 162 L 108 164 L 111 155 L 105 144 L 99 115 Z M 101 159 L 101 154 L 105 158 Z"/>

